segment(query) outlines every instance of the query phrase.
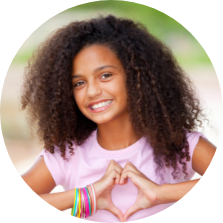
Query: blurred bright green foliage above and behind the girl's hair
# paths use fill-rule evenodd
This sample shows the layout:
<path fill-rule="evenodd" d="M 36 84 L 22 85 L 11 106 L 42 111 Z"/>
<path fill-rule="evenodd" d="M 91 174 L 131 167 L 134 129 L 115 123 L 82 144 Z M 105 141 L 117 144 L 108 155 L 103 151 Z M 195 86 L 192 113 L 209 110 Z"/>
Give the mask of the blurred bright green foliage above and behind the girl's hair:
<path fill-rule="evenodd" d="M 183 36 L 193 47 L 191 47 L 191 52 L 187 53 L 184 50 L 176 50 L 175 52 L 173 49 L 178 61 L 187 65 L 196 65 L 199 63 L 209 63 L 211 65 L 211 60 L 203 47 L 201 45 L 199 46 L 198 40 L 183 24 L 166 13 L 147 5 L 125 0 L 99 0 L 78 4 L 58 14 L 65 15 L 67 13 L 93 13 L 95 15 L 98 13 L 111 13 L 116 16 L 131 18 L 135 21 L 142 22 L 153 35 L 169 45 L 171 49 L 172 45 L 169 44 L 168 38 L 170 36 Z M 19 50 L 14 56 L 12 63 L 26 63 L 32 55 L 33 49 L 28 48 L 25 51 Z M 196 53 L 194 50 L 196 50 Z"/>

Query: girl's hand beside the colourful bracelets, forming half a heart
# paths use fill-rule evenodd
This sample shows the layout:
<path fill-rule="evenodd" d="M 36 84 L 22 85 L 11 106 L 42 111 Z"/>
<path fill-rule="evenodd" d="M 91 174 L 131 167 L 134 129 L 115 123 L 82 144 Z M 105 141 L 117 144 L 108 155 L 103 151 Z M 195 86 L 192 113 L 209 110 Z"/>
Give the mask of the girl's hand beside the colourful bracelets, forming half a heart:
<path fill-rule="evenodd" d="M 111 191 L 119 184 L 123 168 L 114 160 L 110 160 L 105 175 L 93 184 L 96 198 L 97 210 L 106 210 L 114 214 L 120 222 L 123 222 L 123 213 L 113 204 Z M 128 179 L 123 179 L 122 185 L 127 184 Z"/>

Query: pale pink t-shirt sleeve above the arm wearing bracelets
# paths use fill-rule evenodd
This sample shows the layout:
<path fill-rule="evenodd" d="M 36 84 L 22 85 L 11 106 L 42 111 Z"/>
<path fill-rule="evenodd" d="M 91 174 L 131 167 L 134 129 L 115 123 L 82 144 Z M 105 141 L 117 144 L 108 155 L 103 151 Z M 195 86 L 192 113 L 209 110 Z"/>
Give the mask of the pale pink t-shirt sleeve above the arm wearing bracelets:
<path fill-rule="evenodd" d="M 56 186 L 62 185 L 64 182 L 64 174 L 62 172 L 61 167 L 61 156 L 60 153 L 54 152 L 54 154 L 50 153 L 47 150 L 43 150 L 36 158 L 36 160 L 40 157 L 44 157 L 45 164 L 50 171 Z"/>

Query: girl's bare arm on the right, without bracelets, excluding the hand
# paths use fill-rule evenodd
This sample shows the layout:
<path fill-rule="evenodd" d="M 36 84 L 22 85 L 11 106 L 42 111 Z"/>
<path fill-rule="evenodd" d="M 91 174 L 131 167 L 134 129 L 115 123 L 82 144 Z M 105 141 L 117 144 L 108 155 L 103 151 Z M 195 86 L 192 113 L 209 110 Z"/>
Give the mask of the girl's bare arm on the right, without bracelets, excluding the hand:
<path fill-rule="evenodd" d="M 217 148 L 212 143 L 200 137 L 192 157 L 193 170 L 203 176 L 215 156 L 216 149 Z M 157 195 L 158 204 L 166 204 L 181 200 L 200 180 L 201 179 L 161 185 Z"/>

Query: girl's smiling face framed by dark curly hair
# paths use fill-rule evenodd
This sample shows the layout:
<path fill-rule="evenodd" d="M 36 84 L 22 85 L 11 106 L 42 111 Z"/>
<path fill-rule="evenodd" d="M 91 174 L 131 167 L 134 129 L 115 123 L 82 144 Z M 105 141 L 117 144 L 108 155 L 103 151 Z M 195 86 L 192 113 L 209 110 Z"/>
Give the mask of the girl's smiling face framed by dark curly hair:
<path fill-rule="evenodd" d="M 126 74 L 119 59 L 106 46 L 88 46 L 76 55 L 72 85 L 77 106 L 93 122 L 103 124 L 128 115 Z M 112 103 L 102 105 L 101 111 L 89 107 L 100 100 Z"/>

